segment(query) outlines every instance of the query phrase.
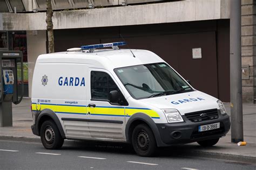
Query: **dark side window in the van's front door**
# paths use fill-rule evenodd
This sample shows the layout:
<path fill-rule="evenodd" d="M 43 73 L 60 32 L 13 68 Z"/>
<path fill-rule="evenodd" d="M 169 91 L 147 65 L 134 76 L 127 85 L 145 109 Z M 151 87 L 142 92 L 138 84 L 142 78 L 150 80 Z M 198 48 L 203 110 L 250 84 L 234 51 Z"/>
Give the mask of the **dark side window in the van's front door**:
<path fill-rule="evenodd" d="M 109 93 L 112 90 L 120 91 L 109 74 L 91 72 L 91 99 L 109 100 Z"/>

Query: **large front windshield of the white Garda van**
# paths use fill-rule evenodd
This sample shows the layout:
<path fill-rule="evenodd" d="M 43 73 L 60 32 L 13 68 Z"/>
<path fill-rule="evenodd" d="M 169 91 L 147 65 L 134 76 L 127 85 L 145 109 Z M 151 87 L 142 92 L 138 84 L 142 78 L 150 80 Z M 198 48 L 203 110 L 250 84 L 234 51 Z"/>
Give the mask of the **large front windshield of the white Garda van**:
<path fill-rule="evenodd" d="M 114 69 L 119 79 L 136 99 L 193 91 L 166 63 L 130 66 Z"/>

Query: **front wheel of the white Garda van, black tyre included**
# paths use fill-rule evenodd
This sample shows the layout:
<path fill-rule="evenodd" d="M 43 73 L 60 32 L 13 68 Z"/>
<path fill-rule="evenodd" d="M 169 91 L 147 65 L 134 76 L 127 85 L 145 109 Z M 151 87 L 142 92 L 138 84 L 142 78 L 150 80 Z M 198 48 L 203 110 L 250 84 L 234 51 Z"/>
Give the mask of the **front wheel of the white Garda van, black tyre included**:
<path fill-rule="evenodd" d="M 152 157 L 157 143 L 152 130 L 146 124 L 137 125 L 132 132 L 132 146 L 141 157 Z"/>

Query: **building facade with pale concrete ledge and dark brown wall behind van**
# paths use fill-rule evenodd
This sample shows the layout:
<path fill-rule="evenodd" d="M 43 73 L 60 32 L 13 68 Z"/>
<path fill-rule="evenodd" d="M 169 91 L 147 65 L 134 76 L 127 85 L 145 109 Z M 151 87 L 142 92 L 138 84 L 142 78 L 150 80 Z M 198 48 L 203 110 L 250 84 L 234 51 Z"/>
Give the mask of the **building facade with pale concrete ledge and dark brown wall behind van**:
<path fill-rule="evenodd" d="M 46 6 L 45 1 L 21 2 L 23 9 L 10 13 L 15 10 L 9 4 L 9 12 L 0 14 L 0 30 L 26 31 L 30 96 L 37 56 L 48 52 Z M 230 0 L 61 2 L 52 1 L 56 52 L 124 39 L 131 48 L 161 56 L 196 89 L 230 101 Z M 243 98 L 253 103 L 254 1 L 242 1 L 241 8 Z"/>

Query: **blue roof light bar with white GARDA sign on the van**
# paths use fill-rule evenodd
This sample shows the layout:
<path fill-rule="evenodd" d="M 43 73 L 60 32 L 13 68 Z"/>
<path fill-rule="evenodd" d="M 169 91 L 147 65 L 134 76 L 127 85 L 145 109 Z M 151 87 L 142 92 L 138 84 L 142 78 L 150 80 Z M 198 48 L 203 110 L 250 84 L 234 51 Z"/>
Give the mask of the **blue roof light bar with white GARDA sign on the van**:
<path fill-rule="evenodd" d="M 113 49 L 119 49 L 118 46 L 126 45 L 126 42 L 111 42 L 106 44 L 94 44 L 94 45 L 85 45 L 81 46 L 82 50 L 89 49 L 89 52 L 92 53 L 96 48 L 106 48 L 112 47 Z"/>

